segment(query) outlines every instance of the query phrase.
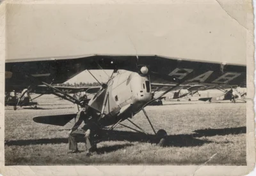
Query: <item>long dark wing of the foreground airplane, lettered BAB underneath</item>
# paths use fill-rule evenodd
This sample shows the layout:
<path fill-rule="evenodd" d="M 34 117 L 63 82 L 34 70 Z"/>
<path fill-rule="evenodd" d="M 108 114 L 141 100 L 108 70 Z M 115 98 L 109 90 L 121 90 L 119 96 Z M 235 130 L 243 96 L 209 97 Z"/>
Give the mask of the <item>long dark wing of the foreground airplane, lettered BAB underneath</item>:
<path fill-rule="evenodd" d="M 140 72 L 147 66 L 152 83 L 186 85 L 237 85 L 246 87 L 246 65 L 196 61 L 160 55 L 80 55 L 30 59 L 8 59 L 5 64 L 6 91 L 13 86 L 61 84 L 84 70 L 128 70 Z"/>

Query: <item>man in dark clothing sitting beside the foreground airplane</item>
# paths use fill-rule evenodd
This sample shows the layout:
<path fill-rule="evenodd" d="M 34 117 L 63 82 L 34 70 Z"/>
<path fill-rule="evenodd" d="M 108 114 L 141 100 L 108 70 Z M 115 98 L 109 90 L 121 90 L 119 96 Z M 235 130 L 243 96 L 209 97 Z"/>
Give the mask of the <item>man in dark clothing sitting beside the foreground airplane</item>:
<path fill-rule="evenodd" d="M 68 132 L 68 145 L 71 150 L 68 153 L 79 152 L 76 141 L 78 137 L 85 137 L 86 156 L 90 156 L 91 152 L 97 149 L 95 140 L 100 133 L 100 127 L 97 125 L 97 117 L 98 115 L 88 105 L 85 105 L 83 110 L 77 113 L 76 118 L 78 121 Z M 84 122 L 84 126 L 79 128 L 82 122 Z"/>

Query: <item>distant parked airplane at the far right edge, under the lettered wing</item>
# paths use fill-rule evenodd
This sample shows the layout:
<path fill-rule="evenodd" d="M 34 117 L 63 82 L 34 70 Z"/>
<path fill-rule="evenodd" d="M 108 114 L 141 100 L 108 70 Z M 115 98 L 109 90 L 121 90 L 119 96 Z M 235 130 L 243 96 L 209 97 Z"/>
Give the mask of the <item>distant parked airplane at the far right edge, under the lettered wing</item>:
<path fill-rule="evenodd" d="M 221 96 L 216 97 L 210 97 L 210 98 L 199 98 L 200 101 L 209 101 L 209 102 L 216 102 L 216 101 L 225 101 L 229 100 L 232 103 L 236 103 L 236 100 L 241 100 L 244 103 L 246 100 L 244 99 L 244 96 L 246 96 L 246 92 L 243 92 L 242 94 L 238 92 L 236 89 L 230 89 L 229 91 L 223 91 L 225 94 Z"/>

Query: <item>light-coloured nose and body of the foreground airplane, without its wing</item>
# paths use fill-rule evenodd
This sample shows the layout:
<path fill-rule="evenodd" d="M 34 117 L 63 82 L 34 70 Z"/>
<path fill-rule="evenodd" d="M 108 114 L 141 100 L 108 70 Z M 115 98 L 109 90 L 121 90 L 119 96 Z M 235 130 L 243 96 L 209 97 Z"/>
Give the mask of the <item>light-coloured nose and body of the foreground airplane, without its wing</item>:
<path fill-rule="evenodd" d="M 131 117 L 152 99 L 150 80 L 145 75 L 125 71 L 109 80 L 107 85 L 88 103 L 99 112 L 102 112 L 103 107 L 101 123 L 104 126 Z"/>

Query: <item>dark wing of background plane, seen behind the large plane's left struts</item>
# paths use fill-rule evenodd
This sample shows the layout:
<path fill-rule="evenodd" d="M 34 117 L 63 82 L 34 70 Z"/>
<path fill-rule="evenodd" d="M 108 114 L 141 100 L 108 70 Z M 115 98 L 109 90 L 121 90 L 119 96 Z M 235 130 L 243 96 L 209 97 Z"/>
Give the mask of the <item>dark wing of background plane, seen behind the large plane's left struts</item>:
<path fill-rule="evenodd" d="M 95 94 L 100 90 L 100 86 L 90 86 L 90 87 L 65 87 L 65 86 L 54 86 L 62 92 L 67 94 L 76 94 L 77 92 L 86 92 L 88 94 Z M 34 89 L 36 94 L 52 94 L 52 89 L 49 89 L 45 85 L 38 85 Z"/>

